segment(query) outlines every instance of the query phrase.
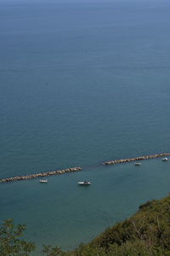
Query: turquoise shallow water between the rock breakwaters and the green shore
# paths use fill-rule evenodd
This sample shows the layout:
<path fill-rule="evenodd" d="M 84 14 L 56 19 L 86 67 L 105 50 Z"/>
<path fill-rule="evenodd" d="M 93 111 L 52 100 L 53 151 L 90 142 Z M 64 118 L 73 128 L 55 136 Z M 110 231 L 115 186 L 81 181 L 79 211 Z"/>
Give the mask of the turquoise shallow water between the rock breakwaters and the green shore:
<path fill-rule="evenodd" d="M 86 178 L 90 187 L 77 185 Z M 37 245 L 71 249 L 127 218 L 144 201 L 167 195 L 169 178 L 169 163 L 148 160 L 142 166 L 103 166 L 48 177 L 48 184 L 37 179 L 4 184 L 1 218 L 26 223 L 26 237 Z"/>

